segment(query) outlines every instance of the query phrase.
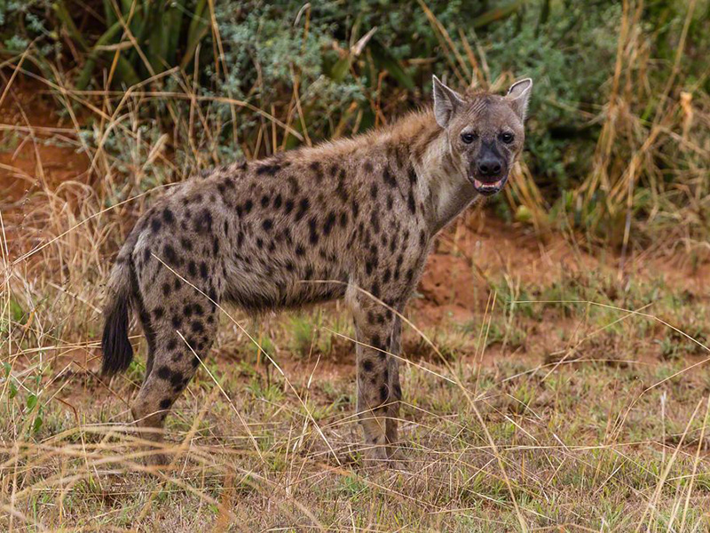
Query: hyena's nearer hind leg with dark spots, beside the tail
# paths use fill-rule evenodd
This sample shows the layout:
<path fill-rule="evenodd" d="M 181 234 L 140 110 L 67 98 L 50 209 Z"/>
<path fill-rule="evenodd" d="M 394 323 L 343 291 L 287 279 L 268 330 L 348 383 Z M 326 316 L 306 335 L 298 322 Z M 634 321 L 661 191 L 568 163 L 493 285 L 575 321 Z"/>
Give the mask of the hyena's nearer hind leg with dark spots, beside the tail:
<path fill-rule="evenodd" d="M 209 300 L 196 295 L 181 300 L 179 305 L 179 309 L 159 318 L 151 315 L 152 369 L 130 409 L 136 426 L 143 430 L 140 436 L 146 441 L 163 441 L 163 425 L 170 408 L 193 378 L 200 361 L 207 357 L 217 335 L 217 313 Z M 149 448 L 155 453 L 146 457 L 148 465 L 170 464 L 168 455 L 156 447 Z"/>

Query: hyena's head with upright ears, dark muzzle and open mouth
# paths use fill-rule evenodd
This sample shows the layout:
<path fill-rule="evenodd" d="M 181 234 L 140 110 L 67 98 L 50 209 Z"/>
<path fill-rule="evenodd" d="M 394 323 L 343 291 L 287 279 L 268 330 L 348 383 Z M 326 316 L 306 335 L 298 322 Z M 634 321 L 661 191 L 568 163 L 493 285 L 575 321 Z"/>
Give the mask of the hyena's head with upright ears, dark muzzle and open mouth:
<path fill-rule="evenodd" d="M 525 109 L 533 80 L 513 84 L 506 96 L 461 95 L 434 76 L 434 116 L 446 130 L 454 165 L 481 195 L 493 195 L 508 179 L 525 140 Z"/>

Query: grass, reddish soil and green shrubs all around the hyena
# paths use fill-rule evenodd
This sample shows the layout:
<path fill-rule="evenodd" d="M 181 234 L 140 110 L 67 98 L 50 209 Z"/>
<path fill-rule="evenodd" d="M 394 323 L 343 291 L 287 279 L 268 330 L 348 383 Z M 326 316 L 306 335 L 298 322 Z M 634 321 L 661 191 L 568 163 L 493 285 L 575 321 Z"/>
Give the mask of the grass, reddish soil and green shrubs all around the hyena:
<path fill-rule="evenodd" d="M 708 28 L 707 0 L 0 0 L 0 525 L 710 528 Z M 132 221 L 195 171 L 425 106 L 432 74 L 535 86 L 524 161 L 414 305 L 414 473 L 359 469 L 333 306 L 225 317 L 170 427 L 179 468 L 147 476 L 141 362 L 112 384 L 92 366 Z M 321 356 L 337 379 L 316 386 Z"/>

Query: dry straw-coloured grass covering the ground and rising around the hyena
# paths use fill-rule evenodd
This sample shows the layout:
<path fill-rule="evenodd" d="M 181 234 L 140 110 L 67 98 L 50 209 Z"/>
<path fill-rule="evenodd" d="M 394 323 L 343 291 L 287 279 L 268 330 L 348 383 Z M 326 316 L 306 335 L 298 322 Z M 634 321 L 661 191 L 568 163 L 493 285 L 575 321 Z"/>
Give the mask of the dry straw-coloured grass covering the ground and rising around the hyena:
<path fill-rule="evenodd" d="M 637 256 L 627 247 L 635 226 L 626 217 L 636 171 L 657 173 L 651 154 L 661 144 L 698 155 L 678 183 L 699 179 L 707 149 L 690 137 L 697 131 L 675 132 L 687 106 L 679 113 L 668 99 L 651 122 L 631 113 L 636 96 L 621 91 L 629 84 L 620 78 L 643 72 L 628 61 L 648 60 L 643 38 L 631 33 L 634 16 L 624 12 L 613 80 L 619 91 L 596 117 L 605 124 L 596 171 L 577 193 L 602 188 L 609 204 L 598 212 L 622 213 L 621 268 L 585 272 L 576 246 L 584 235 L 570 233 L 580 275 L 561 269 L 520 282 L 523 269 L 484 271 L 474 263 L 486 293 L 474 322 L 420 326 L 424 314 L 414 312 L 406 346 L 415 349 L 403 370 L 404 472 L 367 472 L 360 464 L 352 335 L 338 306 L 258 322 L 223 316 L 218 348 L 177 402 L 169 443 L 156 450 L 174 457 L 173 468 L 146 471 L 128 408 L 142 358 L 112 382 L 94 371 L 101 288 L 108 258 L 154 191 L 220 162 L 210 133 L 222 126 L 210 114 L 217 99 L 198 98 L 174 71 L 158 77 L 173 76 L 181 91 L 154 88 L 157 78 L 125 93 L 37 79 L 32 87 L 64 106 L 61 125 L 36 126 L 16 76 L 37 77 L 24 67 L 31 54 L 7 61 L 12 74 L 3 74 L 0 101 L 12 101 L 18 113 L 3 124 L 4 140 L 16 154 L 33 154 L 34 166 L 0 166 L 8 182 L 27 186 L 0 199 L 0 529 L 710 529 L 707 296 L 702 285 L 682 292 L 677 278 L 629 277 L 634 261 L 677 253 L 679 238 L 680 265 L 701 264 L 706 243 L 693 217 L 707 191 L 698 187 L 695 203 L 679 211 L 667 191 L 654 190 L 643 231 L 655 224 L 666 233 L 654 234 L 658 243 Z M 451 42 L 442 39 L 445 47 Z M 502 83 L 486 79 L 465 49 L 467 56 L 451 49 L 460 73 Z M 259 115 L 256 135 L 241 140 L 247 154 L 300 136 L 292 127 L 300 120 L 297 91 L 280 118 L 220 100 L 235 116 Z M 158 102 L 171 131 L 150 120 Z M 707 123 L 706 100 L 691 108 Z M 640 140 L 630 159 L 614 153 L 619 135 Z M 44 161 L 48 143 L 83 152 L 85 171 L 59 182 Z M 533 176 L 523 168 L 513 186 L 544 234 L 549 221 Z M 615 256 L 609 263 L 619 267 Z"/>

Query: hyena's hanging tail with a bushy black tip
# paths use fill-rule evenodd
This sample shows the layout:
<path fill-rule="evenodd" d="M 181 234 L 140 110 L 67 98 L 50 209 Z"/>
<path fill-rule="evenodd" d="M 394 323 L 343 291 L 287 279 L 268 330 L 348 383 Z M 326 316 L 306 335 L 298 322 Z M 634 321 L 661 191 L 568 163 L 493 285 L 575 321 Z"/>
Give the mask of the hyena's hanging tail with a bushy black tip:
<path fill-rule="evenodd" d="M 106 376 L 128 369 L 133 360 L 133 346 L 130 346 L 128 339 L 130 280 L 131 275 L 135 275 L 131 272 L 133 261 L 130 251 L 133 246 L 130 244 L 126 243 L 118 255 L 106 292 L 108 300 L 104 308 L 104 335 L 101 338 L 101 371 Z"/>

